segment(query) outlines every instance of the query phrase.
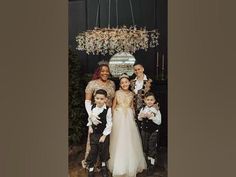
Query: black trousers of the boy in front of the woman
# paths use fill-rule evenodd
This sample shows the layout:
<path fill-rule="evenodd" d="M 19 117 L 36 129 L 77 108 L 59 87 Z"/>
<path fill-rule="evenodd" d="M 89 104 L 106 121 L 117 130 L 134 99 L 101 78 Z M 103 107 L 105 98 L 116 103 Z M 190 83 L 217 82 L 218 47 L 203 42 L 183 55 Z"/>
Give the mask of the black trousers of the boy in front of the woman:
<path fill-rule="evenodd" d="M 105 141 L 103 143 L 99 142 L 100 137 L 103 134 L 96 134 L 92 133 L 90 134 L 90 151 L 86 160 L 86 163 L 88 164 L 89 168 L 94 167 L 94 165 L 97 162 L 97 157 L 99 156 L 99 159 L 101 162 L 106 162 L 109 160 L 109 135 L 106 137 Z"/>

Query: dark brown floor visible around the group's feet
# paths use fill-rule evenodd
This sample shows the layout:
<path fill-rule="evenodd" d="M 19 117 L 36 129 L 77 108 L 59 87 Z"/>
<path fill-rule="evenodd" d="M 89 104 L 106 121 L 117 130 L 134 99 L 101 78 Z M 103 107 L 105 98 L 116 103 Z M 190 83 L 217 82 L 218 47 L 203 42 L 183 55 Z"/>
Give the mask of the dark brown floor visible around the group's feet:
<path fill-rule="evenodd" d="M 73 147 L 69 152 L 69 177 L 86 177 L 87 172 L 82 167 L 81 161 L 84 158 L 85 145 L 79 147 Z M 159 158 L 157 159 L 157 165 L 153 176 L 149 177 L 167 177 L 167 149 L 160 148 Z M 146 177 L 146 171 L 137 174 L 137 177 Z M 95 177 L 100 177 L 99 172 L 95 173 Z"/>

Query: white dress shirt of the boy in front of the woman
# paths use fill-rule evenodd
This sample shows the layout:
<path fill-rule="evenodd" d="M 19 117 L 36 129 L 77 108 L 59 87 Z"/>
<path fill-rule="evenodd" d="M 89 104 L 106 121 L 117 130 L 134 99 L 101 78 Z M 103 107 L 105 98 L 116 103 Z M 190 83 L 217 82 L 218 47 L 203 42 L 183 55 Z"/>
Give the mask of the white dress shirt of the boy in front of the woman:
<path fill-rule="evenodd" d="M 103 112 L 104 109 L 107 109 L 106 108 L 106 104 L 104 104 L 102 107 L 95 107 L 93 108 L 93 110 L 91 111 L 91 113 L 93 115 L 96 115 L 98 116 L 100 113 Z M 109 135 L 111 133 L 111 128 L 112 128 L 112 114 L 111 114 L 111 108 L 108 108 L 107 110 L 107 115 L 106 115 L 106 128 L 104 129 L 103 131 L 103 135 Z M 90 117 L 88 117 L 88 123 L 87 123 L 87 126 L 91 126 L 93 123 L 90 119 Z"/>

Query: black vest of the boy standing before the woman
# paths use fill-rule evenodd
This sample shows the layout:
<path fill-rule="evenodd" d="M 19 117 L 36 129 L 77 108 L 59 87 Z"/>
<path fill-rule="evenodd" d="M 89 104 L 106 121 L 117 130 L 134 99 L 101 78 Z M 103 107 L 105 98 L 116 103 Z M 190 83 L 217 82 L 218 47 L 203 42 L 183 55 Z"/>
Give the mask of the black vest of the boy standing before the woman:
<path fill-rule="evenodd" d="M 93 110 L 96 107 L 96 105 L 92 106 Z M 100 134 L 103 133 L 104 129 L 106 128 L 106 124 L 107 124 L 107 111 L 108 111 L 108 107 L 106 107 L 106 109 L 103 110 L 103 112 L 101 112 L 98 117 L 100 117 L 99 121 L 101 121 L 102 123 L 98 124 L 98 125 L 94 125 L 92 124 L 92 128 L 93 128 L 93 132 L 96 134 Z"/>

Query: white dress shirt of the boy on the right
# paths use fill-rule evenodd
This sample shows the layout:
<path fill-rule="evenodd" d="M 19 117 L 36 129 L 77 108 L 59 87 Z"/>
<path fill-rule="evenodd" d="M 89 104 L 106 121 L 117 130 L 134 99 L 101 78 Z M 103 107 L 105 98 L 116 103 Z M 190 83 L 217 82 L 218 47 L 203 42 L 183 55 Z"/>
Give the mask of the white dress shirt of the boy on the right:
<path fill-rule="evenodd" d="M 161 112 L 160 112 L 160 110 L 157 110 L 154 107 L 145 106 L 144 108 L 142 108 L 140 110 L 140 113 L 154 113 L 154 116 L 151 117 L 150 119 L 157 125 L 161 124 Z M 138 119 L 142 120 L 143 117 L 141 117 L 140 113 L 138 115 Z"/>

